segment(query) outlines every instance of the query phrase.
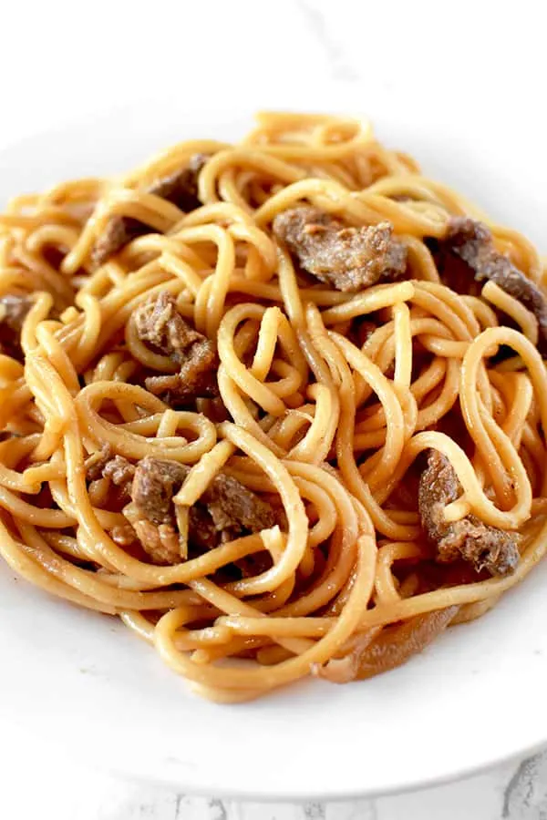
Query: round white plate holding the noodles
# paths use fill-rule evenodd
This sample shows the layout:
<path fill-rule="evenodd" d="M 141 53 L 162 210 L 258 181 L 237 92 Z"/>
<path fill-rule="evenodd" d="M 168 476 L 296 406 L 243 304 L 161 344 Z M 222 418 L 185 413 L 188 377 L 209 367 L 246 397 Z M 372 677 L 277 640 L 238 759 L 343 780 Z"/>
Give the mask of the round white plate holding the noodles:
<path fill-rule="evenodd" d="M 488 111 L 468 108 L 462 119 L 439 102 L 417 108 L 414 99 L 367 98 L 388 144 L 547 250 L 540 123 L 530 124 L 524 149 L 519 124 L 500 128 Z M 348 97 L 336 102 L 351 108 Z M 334 99 L 325 96 L 321 107 L 335 108 Z M 219 108 L 189 113 L 172 99 L 118 110 L 6 150 L 0 196 L 129 169 L 182 138 L 237 138 L 250 122 L 250 114 Z M 546 589 L 543 565 L 483 619 L 372 681 L 304 682 L 218 706 L 191 695 L 117 620 L 50 598 L 1 564 L 3 741 L 23 733 L 110 771 L 255 798 L 385 794 L 439 782 L 547 742 Z"/>

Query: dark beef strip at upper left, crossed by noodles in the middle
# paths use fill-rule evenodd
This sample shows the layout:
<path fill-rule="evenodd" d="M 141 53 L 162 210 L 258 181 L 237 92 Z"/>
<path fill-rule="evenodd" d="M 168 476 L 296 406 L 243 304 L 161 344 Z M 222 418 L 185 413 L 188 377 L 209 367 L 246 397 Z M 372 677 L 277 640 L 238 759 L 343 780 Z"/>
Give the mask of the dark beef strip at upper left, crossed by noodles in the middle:
<path fill-rule="evenodd" d="M 156 179 L 147 189 L 148 193 L 169 200 L 185 212 L 199 208 L 201 201 L 198 199 L 198 176 L 207 159 L 204 154 L 195 154 L 187 168 L 175 171 L 168 177 Z M 112 217 L 91 250 L 93 266 L 102 265 L 129 241 L 144 233 L 150 233 L 151 230 L 149 225 L 140 220 L 131 217 Z"/>

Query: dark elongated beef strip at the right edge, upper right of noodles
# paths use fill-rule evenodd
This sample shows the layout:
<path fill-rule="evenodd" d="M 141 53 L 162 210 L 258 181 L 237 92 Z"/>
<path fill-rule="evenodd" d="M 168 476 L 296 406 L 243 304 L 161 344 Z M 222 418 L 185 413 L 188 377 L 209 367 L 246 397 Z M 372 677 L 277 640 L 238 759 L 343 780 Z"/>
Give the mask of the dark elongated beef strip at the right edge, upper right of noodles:
<path fill-rule="evenodd" d="M 482 222 L 468 217 L 449 220 L 446 236 L 440 243 L 473 272 L 475 280 L 490 280 L 509 293 L 538 320 L 542 353 L 547 352 L 547 299 L 540 288 L 512 264 L 509 257 L 496 251 L 490 230 Z"/>

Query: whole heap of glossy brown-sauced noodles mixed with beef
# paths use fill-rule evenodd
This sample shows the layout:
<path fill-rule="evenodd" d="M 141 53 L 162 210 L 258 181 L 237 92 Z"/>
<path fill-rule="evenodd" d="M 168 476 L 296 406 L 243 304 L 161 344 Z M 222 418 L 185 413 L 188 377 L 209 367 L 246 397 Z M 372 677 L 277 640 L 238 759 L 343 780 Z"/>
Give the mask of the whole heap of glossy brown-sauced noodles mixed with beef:
<path fill-rule="evenodd" d="M 368 123 L 304 114 L 12 200 L 5 561 L 217 702 L 370 677 L 490 610 L 547 548 L 547 308 L 531 243 L 477 220 Z M 386 270 L 346 287 L 369 237 L 359 275 Z"/>

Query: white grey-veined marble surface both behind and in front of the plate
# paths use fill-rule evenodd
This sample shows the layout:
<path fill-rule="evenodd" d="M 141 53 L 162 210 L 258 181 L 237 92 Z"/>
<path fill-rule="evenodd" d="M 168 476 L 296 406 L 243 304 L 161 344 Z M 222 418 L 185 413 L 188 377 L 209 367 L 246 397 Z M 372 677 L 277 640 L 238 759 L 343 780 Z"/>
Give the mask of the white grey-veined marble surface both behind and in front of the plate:
<path fill-rule="evenodd" d="M 193 98 L 221 90 L 240 102 L 254 101 L 260 91 L 265 105 L 290 106 L 308 91 L 320 98 L 322 83 L 335 79 L 353 88 L 365 107 L 367 87 L 398 85 L 408 95 L 431 96 L 432 104 L 436 94 L 454 95 L 465 116 L 464 91 L 488 101 L 495 86 L 504 89 L 506 113 L 522 116 L 537 104 L 523 79 L 544 73 L 544 26 L 535 4 L 521 0 L 515 8 L 498 4 L 493 12 L 490 3 L 468 0 L 457 9 L 356 0 L 9 4 L 0 48 L 0 147 L 165 87 Z M 547 818 L 547 753 L 458 784 L 333 805 L 191 797 L 84 768 L 70 750 L 52 759 L 5 735 L 0 766 L 0 816 L 10 820 Z"/>

